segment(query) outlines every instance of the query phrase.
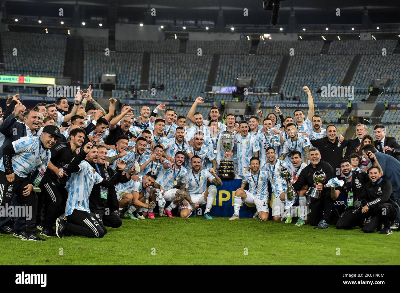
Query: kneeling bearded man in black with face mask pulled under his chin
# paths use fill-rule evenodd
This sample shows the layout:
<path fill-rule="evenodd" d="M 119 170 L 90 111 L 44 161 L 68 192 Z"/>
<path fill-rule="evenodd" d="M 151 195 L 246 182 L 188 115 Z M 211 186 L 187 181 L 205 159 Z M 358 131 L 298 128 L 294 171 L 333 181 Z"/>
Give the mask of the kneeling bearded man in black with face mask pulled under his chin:
<path fill-rule="evenodd" d="M 342 171 L 342 177 L 338 177 L 339 180 L 344 181 L 343 186 L 330 187 L 331 197 L 336 200 L 340 193 L 343 193 L 347 198 L 347 207 L 344 212 L 340 215 L 336 222 L 336 229 L 350 229 L 355 226 L 364 226 L 364 221 L 361 218 L 353 217 L 354 201 L 359 200 L 360 193 L 368 182 L 367 171 L 352 171 L 351 163 L 349 159 L 343 159 L 340 163 L 340 171 Z"/>

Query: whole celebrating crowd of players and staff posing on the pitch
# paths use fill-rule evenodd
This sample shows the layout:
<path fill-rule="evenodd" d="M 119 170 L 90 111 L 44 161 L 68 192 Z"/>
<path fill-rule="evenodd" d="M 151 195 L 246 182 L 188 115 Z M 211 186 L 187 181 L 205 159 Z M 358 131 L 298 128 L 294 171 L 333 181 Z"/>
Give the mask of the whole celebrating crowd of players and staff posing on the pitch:
<path fill-rule="evenodd" d="M 188 218 L 202 214 L 199 206 L 212 220 L 222 159 L 233 161 L 235 178 L 242 180 L 229 220 L 239 220 L 246 203 L 256 206 L 254 218 L 262 221 L 272 216 L 290 224 L 297 218 L 294 226 L 392 234 L 399 220 L 400 146 L 382 124 L 371 134 L 358 124 L 352 140 L 338 135 L 335 125 L 322 128 L 310 90 L 302 90 L 307 113 L 296 109 L 285 117 L 275 107 L 265 118 L 258 110 L 249 121 L 227 114 L 225 124 L 216 106 L 208 120 L 196 112 L 202 97 L 180 116 L 164 104 L 142 105 L 136 115 L 123 104 L 114 115 L 117 101 L 110 98 L 106 113 L 90 87 L 76 94 L 74 104 L 58 98 L 28 110 L 16 94 L 0 124 L 0 208 L 29 212 L 2 214 L 0 234 L 31 241 L 102 238 L 106 227 L 122 225 L 121 218 L 154 219 L 157 210 L 158 216 Z M 232 150 L 224 148 L 224 132 L 233 133 Z M 281 177 L 284 169 L 289 181 Z M 326 180 L 314 181 L 321 172 Z M 288 184 L 295 202 L 287 197 Z M 319 198 L 308 196 L 310 187 Z M 336 205 L 338 199 L 346 204 Z"/>

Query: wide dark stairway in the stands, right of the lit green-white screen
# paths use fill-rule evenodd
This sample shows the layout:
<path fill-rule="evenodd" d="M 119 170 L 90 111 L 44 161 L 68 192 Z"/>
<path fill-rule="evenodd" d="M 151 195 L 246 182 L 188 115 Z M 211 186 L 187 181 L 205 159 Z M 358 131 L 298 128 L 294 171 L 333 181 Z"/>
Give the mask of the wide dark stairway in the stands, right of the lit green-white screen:
<path fill-rule="evenodd" d="M 71 77 L 72 83 L 83 81 L 83 39 L 68 37 L 64 57 L 64 76 Z"/>

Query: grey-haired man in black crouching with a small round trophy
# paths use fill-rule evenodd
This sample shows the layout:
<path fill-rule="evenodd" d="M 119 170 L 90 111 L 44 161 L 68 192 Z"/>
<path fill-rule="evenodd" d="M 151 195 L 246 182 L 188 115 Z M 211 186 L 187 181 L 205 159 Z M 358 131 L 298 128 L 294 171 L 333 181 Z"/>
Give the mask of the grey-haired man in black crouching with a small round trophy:
<path fill-rule="evenodd" d="M 325 173 L 325 182 L 334 177 L 332 166 L 321 161 L 321 154 L 318 148 L 312 147 L 310 149 L 309 158 L 311 163 L 301 171 L 297 181 L 293 183 L 293 188 L 298 191 L 299 197 L 305 196 L 308 187 L 315 185 L 312 177 L 316 171 Z M 329 188 L 325 188 L 322 183 L 318 183 L 315 187 L 321 190 L 321 198 L 310 198 L 311 211 L 306 220 L 309 220 L 310 225 L 315 226 L 316 229 L 326 229 L 329 228 L 328 219 L 332 210 L 333 200 L 330 197 Z"/>

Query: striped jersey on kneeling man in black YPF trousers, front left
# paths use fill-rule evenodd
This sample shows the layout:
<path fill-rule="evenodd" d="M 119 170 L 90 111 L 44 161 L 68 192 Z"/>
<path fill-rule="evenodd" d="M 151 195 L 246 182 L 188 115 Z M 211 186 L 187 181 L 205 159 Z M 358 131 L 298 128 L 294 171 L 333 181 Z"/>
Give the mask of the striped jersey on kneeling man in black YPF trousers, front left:
<path fill-rule="evenodd" d="M 101 175 L 87 161 L 80 162 L 79 171 L 71 173 L 65 185 L 65 189 L 68 191 L 65 215 L 69 216 L 74 209 L 90 212 L 90 193 L 92 193 L 93 186 L 102 181 Z"/>

